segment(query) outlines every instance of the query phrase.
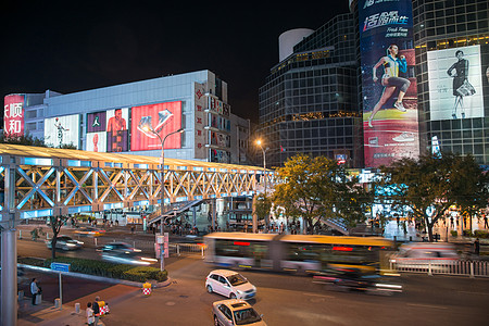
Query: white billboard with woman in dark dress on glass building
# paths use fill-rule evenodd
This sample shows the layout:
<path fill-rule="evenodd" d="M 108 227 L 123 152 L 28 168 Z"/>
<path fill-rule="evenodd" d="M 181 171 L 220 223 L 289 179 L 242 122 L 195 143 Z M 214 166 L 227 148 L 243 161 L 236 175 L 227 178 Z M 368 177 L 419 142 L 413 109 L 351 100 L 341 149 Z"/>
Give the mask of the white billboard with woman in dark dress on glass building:
<path fill-rule="evenodd" d="M 480 46 L 428 51 L 430 120 L 484 116 Z"/>

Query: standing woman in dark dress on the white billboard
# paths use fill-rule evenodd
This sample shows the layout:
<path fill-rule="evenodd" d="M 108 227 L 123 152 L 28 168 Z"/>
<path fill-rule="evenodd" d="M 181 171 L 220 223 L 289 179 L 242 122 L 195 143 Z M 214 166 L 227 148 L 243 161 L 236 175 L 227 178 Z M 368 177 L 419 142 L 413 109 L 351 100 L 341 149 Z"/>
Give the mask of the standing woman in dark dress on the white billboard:
<path fill-rule="evenodd" d="M 453 96 L 455 97 L 455 103 L 453 104 L 452 117 L 456 118 L 456 108 L 460 105 L 461 115 L 462 118 L 464 118 L 464 97 L 474 95 L 475 89 L 467 80 L 468 60 L 464 59 L 464 52 L 462 50 L 457 50 L 455 52 L 455 57 L 459 61 L 452 64 L 452 66 L 447 71 L 447 74 L 450 77 L 453 77 Z"/>

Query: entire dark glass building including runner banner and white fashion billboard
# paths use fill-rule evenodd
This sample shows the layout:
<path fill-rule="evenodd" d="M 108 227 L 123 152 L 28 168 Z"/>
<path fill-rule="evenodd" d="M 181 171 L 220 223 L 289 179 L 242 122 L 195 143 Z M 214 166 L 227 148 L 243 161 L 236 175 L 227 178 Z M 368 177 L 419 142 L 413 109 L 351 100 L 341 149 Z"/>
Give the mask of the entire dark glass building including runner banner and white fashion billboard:
<path fill-rule="evenodd" d="M 279 37 L 260 89 L 271 165 L 301 152 L 378 167 L 429 151 L 489 164 L 489 3 L 349 4 L 315 32 Z"/>

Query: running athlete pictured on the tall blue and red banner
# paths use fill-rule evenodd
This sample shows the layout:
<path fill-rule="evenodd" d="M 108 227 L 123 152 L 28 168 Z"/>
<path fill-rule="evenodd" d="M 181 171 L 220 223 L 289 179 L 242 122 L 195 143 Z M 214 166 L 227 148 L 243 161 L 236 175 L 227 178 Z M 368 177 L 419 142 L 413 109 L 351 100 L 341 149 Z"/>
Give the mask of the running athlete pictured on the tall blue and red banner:
<path fill-rule="evenodd" d="M 375 114 L 386 104 L 387 100 L 389 100 L 394 91 L 399 89 L 398 100 L 394 102 L 394 108 L 401 112 L 405 112 L 405 108 L 402 104 L 402 99 L 404 98 L 408 88 L 411 85 L 411 82 L 406 78 L 399 77 L 399 71 L 405 73 L 408 71 L 408 62 L 405 61 L 404 55 L 400 55 L 398 58 L 399 48 L 396 45 L 390 45 L 387 48 L 387 55 L 380 58 L 380 60 L 374 65 L 372 75 L 374 76 L 372 79 L 374 83 L 378 80 L 377 78 L 377 68 L 380 65 L 384 65 L 384 75 L 381 79 L 381 84 L 384 86 L 383 95 L 378 100 L 377 104 L 375 104 L 374 110 L 372 110 L 372 114 L 368 117 L 368 127 L 373 128 L 372 121 L 374 120 Z"/>

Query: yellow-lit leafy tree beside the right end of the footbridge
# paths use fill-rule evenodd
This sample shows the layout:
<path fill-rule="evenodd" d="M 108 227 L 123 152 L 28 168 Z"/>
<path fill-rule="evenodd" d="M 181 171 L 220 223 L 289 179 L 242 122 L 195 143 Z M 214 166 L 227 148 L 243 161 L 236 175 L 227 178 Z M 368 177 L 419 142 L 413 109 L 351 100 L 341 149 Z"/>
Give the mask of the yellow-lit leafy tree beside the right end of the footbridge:
<path fill-rule="evenodd" d="M 292 217 L 302 216 L 308 233 L 322 220 L 336 220 L 347 227 L 364 220 L 368 192 L 343 165 L 325 156 L 297 154 L 277 171 L 274 203 Z"/>

